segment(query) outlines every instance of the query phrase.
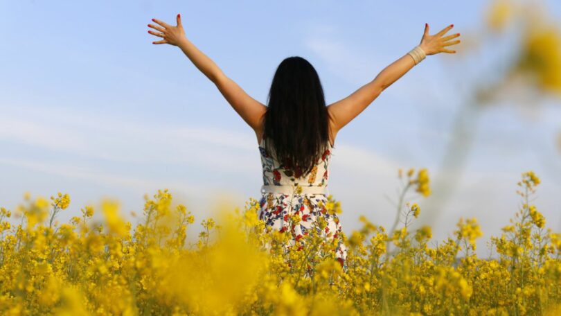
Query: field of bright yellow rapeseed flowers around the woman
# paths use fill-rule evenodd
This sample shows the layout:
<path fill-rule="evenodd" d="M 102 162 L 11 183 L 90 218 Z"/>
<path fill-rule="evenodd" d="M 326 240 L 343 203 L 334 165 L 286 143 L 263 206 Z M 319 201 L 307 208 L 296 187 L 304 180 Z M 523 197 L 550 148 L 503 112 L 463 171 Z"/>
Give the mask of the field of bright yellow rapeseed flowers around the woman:
<path fill-rule="evenodd" d="M 430 194 L 427 170 L 399 171 L 404 191 Z M 326 225 L 321 217 L 317 230 L 291 245 L 288 231 L 265 229 L 252 198 L 243 211 L 202 220 L 199 238 L 188 243 L 195 218 L 167 190 L 145 197 L 134 228 L 112 200 L 59 225 L 69 195 L 26 195 L 13 212 L 0 212 L 0 313 L 561 315 L 561 234 L 546 229 L 529 203 L 538 184 L 533 172 L 522 174 L 522 207 L 491 237 L 493 258 L 474 253 L 482 236 L 475 218 L 460 218 L 455 238 L 429 247 L 430 227 L 409 231 L 420 207 L 400 200 L 404 225 L 391 234 L 361 216 L 362 229 L 343 235 L 344 268 L 337 245 L 317 233 Z M 341 213 L 331 195 L 324 207 Z"/>

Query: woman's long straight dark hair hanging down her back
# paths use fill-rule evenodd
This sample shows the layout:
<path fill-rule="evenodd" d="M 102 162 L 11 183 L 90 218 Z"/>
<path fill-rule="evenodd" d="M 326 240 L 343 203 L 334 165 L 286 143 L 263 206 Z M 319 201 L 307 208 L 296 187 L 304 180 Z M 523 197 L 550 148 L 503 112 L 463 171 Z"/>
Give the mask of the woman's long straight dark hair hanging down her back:
<path fill-rule="evenodd" d="M 272 141 L 277 161 L 308 175 L 327 149 L 329 113 L 319 76 L 308 60 L 285 58 L 278 65 L 267 96 L 264 116 L 265 148 Z"/>

